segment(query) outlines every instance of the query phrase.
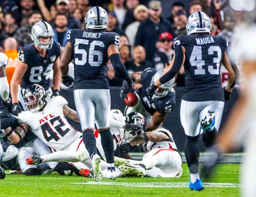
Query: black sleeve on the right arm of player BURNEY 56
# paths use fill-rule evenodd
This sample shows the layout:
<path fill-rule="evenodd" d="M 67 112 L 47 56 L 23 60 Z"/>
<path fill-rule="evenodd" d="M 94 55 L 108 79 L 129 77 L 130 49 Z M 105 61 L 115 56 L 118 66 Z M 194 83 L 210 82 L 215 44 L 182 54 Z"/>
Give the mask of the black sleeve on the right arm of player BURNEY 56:
<path fill-rule="evenodd" d="M 127 82 L 131 81 L 131 77 L 127 73 L 125 65 L 121 62 L 121 57 L 118 53 L 115 53 L 109 57 L 112 66 L 114 67 L 115 72 L 125 79 Z"/>

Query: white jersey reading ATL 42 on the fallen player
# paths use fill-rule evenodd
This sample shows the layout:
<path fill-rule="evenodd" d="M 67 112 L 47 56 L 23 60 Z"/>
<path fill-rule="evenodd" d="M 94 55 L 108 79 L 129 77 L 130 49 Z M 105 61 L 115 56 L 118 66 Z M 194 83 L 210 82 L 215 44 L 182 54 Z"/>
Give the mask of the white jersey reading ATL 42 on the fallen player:
<path fill-rule="evenodd" d="M 62 96 L 50 98 L 43 111 L 32 113 L 22 111 L 17 117 L 19 123 L 27 123 L 32 132 L 54 150 L 62 150 L 78 138 L 81 133 L 75 130 L 63 114 L 67 100 Z"/>

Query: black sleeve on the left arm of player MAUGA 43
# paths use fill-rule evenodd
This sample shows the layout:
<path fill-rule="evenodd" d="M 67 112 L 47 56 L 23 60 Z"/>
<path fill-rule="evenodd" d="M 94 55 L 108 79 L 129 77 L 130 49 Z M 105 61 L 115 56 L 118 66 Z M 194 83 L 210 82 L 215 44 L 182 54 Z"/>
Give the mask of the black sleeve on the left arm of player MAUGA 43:
<path fill-rule="evenodd" d="M 175 59 L 172 68 L 159 79 L 161 84 L 168 82 L 179 72 L 179 69 L 182 66 L 183 58 L 183 50 L 180 45 L 177 45 L 175 47 Z"/>

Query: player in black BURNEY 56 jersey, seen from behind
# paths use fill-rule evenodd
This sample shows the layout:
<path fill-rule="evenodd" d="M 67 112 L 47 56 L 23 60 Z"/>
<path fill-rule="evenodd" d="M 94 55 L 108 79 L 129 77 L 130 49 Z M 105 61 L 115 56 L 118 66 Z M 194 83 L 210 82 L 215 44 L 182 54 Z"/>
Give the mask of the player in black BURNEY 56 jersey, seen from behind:
<path fill-rule="evenodd" d="M 101 181 L 100 156 L 97 154 L 94 125 L 101 135 L 101 144 L 108 163 L 108 179 L 115 179 L 114 145 L 109 130 L 110 93 L 107 79 L 107 63 L 110 59 L 115 71 L 124 78 L 131 90 L 132 80 L 121 62 L 118 51 L 120 37 L 114 32 L 105 32 L 107 12 L 101 7 L 92 7 L 85 17 L 86 29 L 73 29 L 67 36 L 67 44 L 60 60 L 63 84 L 74 82 L 74 98 L 83 131 L 83 141 L 92 159 L 94 179 Z M 74 60 L 74 76 L 68 76 L 68 64 Z"/>

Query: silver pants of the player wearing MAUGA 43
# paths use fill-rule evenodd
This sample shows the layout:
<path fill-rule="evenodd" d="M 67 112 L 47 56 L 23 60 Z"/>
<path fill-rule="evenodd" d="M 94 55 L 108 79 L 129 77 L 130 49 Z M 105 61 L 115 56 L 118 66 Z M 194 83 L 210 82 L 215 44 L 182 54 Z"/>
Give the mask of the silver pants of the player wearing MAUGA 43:
<path fill-rule="evenodd" d="M 220 127 L 220 121 L 224 108 L 223 101 L 185 101 L 181 100 L 180 121 L 184 128 L 185 134 L 191 137 L 197 136 L 200 132 L 200 122 L 205 118 L 208 111 L 215 113 L 215 128 L 217 131 Z"/>

